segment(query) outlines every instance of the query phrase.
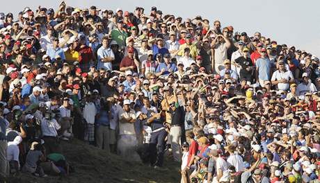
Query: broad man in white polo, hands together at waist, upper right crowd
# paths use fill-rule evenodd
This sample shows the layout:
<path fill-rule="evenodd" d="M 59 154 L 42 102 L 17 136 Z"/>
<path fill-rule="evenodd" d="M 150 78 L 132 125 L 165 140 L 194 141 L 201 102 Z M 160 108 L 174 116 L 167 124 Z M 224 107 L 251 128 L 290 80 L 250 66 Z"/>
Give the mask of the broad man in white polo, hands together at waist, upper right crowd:
<path fill-rule="evenodd" d="M 279 60 L 278 70 L 275 71 L 271 77 L 272 85 L 277 85 L 278 89 L 286 91 L 292 82 L 294 82 L 294 75 L 285 68 L 285 62 Z"/>

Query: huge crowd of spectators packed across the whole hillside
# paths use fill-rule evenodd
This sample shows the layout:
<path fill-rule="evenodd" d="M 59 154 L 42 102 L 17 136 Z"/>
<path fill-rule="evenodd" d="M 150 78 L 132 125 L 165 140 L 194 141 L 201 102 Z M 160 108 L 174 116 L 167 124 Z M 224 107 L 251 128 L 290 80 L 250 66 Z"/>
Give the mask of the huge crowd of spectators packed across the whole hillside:
<path fill-rule="evenodd" d="M 68 175 L 76 138 L 184 183 L 320 180 L 319 58 L 259 32 L 63 1 L 0 12 L 0 65 L 3 177 Z"/>

